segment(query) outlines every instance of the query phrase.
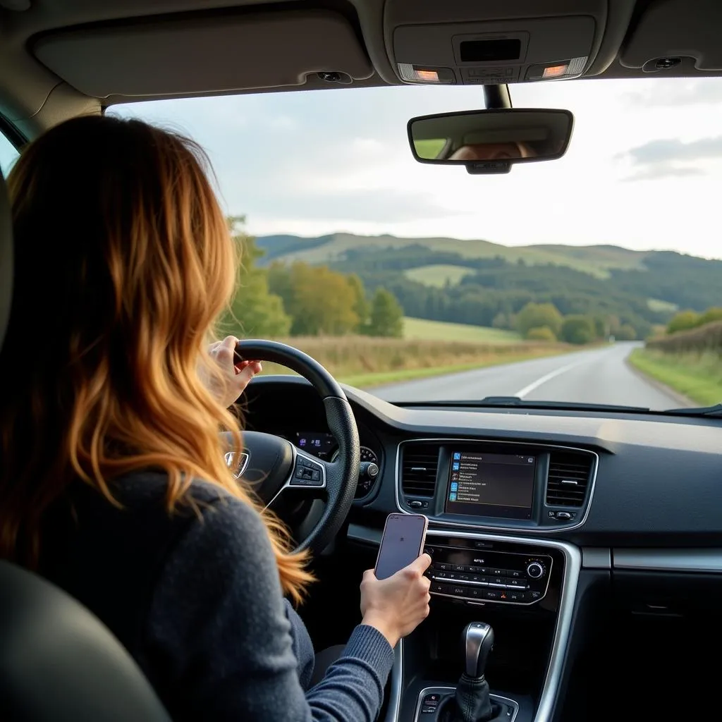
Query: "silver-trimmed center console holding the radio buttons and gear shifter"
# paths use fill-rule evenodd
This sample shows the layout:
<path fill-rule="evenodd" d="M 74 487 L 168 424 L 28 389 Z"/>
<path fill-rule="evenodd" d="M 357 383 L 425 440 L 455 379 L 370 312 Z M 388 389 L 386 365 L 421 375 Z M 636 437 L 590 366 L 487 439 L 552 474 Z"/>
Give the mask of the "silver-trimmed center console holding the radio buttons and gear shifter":
<path fill-rule="evenodd" d="M 549 722 L 573 618 L 578 548 L 430 528 L 425 550 L 431 612 L 400 645 L 396 721 Z"/>

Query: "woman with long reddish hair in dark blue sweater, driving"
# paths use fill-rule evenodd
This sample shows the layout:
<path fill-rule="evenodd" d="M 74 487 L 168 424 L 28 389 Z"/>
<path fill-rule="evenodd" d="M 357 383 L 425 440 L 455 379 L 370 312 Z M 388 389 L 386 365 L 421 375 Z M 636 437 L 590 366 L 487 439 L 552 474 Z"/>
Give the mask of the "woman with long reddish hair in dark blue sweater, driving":
<path fill-rule="evenodd" d="M 257 364 L 208 352 L 236 259 L 190 141 L 85 117 L 9 177 L 12 316 L 0 354 L 0 556 L 88 606 L 176 720 L 373 720 L 392 648 L 428 613 L 430 560 L 367 571 L 362 623 L 312 689 L 284 594 L 312 580 L 223 461 Z M 238 435 L 240 445 L 240 435 Z"/>

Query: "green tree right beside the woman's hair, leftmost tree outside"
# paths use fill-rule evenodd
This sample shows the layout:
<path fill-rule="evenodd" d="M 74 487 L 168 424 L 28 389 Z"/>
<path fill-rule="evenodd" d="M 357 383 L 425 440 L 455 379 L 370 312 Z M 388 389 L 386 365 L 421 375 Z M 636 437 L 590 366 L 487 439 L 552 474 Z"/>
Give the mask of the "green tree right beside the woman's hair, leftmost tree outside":
<path fill-rule="evenodd" d="M 237 336 L 286 336 L 291 319 L 284 312 L 281 298 L 269 291 L 268 274 L 256 266 L 263 251 L 243 231 L 243 217 L 231 217 L 228 226 L 238 245 L 240 266 L 238 286 L 219 331 Z"/>

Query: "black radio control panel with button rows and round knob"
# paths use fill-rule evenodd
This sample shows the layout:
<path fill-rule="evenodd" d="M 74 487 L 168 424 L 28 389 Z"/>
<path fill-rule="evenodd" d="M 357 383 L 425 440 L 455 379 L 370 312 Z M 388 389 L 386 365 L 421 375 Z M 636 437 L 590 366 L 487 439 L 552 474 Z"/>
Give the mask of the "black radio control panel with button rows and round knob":
<path fill-rule="evenodd" d="M 427 544 L 430 593 L 475 602 L 536 604 L 544 599 L 554 560 L 547 554 Z"/>

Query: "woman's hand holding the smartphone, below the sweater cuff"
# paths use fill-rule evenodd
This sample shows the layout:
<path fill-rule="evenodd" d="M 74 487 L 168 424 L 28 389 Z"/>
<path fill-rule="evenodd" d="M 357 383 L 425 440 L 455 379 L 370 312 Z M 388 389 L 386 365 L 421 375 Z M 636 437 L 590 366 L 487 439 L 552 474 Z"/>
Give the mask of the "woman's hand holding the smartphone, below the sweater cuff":
<path fill-rule="evenodd" d="M 377 579 L 373 569 L 363 575 L 362 624 L 378 629 L 392 647 L 429 615 L 431 582 L 424 572 L 430 564 L 431 557 L 422 554 L 388 579 Z"/>

